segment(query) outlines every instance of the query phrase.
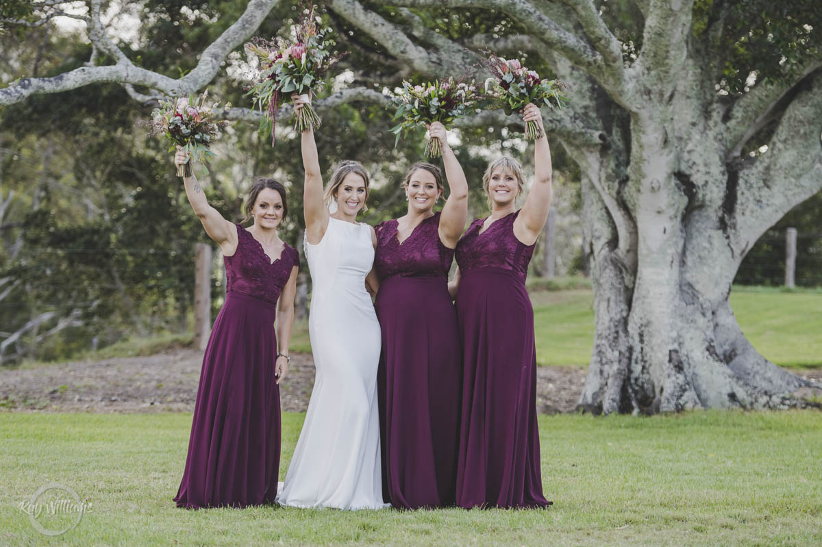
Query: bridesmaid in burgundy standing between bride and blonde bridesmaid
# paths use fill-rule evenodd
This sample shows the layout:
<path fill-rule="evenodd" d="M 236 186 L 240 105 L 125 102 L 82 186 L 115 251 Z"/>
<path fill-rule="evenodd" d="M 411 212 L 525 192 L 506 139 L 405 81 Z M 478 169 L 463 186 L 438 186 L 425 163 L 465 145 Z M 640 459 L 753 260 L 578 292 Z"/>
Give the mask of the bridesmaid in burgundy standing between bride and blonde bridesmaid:
<path fill-rule="evenodd" d="M 383 497 L 397 508 L 453 505 L 459 441 L 459 333 L 448 271 L 468 214 L 468 182 L 440 122 L 450 196 L 434 213 L 440 169 L 415 163 L 403 186 L 408 213 L 376 226 L 376 315 L 382 329 L 377 384 Z"/>

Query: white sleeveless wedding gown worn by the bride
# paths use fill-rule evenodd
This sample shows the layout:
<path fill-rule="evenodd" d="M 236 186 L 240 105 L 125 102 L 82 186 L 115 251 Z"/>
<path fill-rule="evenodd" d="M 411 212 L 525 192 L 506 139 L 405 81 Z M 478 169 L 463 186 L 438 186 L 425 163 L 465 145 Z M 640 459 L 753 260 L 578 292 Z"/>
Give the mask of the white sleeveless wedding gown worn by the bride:
<path fill-rule="evenodd" d="M 305 241 L 312 277 L 316 377 L 305 423 L 277 501 L 301 508 L 376 509 L 382 500 L 376 369 L 380 324 L 365 277 L 371 228 L 330 218 L 321 241 Z"/>

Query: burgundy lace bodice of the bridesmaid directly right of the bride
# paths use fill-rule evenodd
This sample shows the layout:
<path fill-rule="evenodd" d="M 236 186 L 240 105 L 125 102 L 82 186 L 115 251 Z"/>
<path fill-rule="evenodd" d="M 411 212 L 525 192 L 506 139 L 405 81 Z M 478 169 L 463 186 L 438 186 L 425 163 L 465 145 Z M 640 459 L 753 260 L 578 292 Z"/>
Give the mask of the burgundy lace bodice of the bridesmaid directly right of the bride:
<path fill-rule="evenodd" d="M 419 223 L 401 244 L 397 239 L 397 224 L 396 219 L 386 220 L 374 227 L 374 266 L 379 278 L 447 276 L 455 250 L 440 241 L 440 214 L 435 213 Z"/>

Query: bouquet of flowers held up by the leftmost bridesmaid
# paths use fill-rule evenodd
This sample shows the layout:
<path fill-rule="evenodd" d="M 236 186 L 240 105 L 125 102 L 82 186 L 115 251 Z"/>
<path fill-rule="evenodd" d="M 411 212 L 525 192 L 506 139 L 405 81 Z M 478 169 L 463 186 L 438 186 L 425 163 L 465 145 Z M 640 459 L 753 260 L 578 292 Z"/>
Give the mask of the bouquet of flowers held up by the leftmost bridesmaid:
<path fill-rule="evenodd" d="M 203 91 L 199 97 L 182 97 L 173 100 L 160 101 L 159 108 L 155 108 L 150 122 L 152 135 L 164 135 L 171 141 L 172 152 L 177 145 L 190 152 L 194 161 L 201 162 L 215 156 L 209 146 L 219 135 L 219 131 L 229 122 L 215 121 L 214 110 L 219 103 L 210 106 L 205 104 L 208 91 Z M 229 108 L 226 104 L 224 108 Z M 185 163 L 177 168 L 178 177 L 191 177 L 192 164 Z"/>

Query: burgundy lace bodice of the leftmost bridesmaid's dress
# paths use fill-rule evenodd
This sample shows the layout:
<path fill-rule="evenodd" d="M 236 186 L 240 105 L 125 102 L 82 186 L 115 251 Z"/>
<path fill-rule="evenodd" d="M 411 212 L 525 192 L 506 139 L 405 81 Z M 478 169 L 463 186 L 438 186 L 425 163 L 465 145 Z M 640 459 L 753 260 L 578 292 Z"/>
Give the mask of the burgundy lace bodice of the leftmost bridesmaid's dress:
<path fill-rule="evenodd" d="M 241 292 L 261 300 L 276 303 L 279 293 L 289 281 L 291 269 L 298 266 L 296 249 L 285 244 L 278 260 L 270 262 L 260 241 L 237 224 L 237 251 L 223 257 L 227 292 Z"/>

